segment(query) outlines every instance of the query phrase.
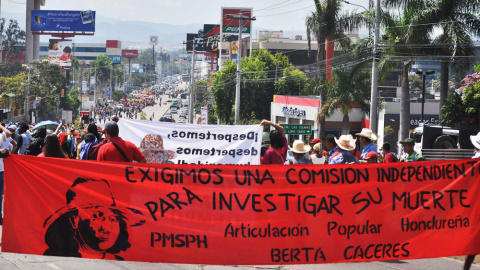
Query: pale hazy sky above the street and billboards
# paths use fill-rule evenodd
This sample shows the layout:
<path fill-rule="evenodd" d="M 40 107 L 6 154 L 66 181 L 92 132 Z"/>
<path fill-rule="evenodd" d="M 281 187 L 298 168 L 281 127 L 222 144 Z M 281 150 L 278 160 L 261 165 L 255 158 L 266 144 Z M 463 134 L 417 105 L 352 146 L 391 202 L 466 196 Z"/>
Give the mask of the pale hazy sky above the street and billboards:
<path fill-rule="evenodd" d="M 1 11 L 24 14 L 27 0 L 0 0 Z M 217 24 L 221 7 L 253 8 L 255 26 L 268 30 L 303 31 L 313 0 L 45 0 L 43 10 L 94 10 L 97 16 L 122 21 L 148 21 L 175 25 Z M 369 0 L 349 0 L 368 7 Z M 345 9 L 358 9 L 343 4 Z M 22 23 L 21 25 L 24 25 Z"/>

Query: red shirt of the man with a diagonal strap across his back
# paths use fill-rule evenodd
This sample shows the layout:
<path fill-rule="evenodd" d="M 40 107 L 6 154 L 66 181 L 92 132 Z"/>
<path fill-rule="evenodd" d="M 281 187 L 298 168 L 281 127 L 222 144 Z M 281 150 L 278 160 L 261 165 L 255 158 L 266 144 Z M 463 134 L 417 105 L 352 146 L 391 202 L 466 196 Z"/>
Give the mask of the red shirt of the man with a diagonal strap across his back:
<path fill-rule="evenodd" d="M 106 144 L 102 145 L 102 147 L 98 149 L 97 160 L 125 162 L 122 154 L 113 144 L 110 143 L 111 141 L 116 143 L 118 147 L 122 149 L 123 153 L 125 153 L 125 156 L 127 156 L 129 162 L 132 162 L 133 160 L 140 162 L 145 159 L 145 155 L 140 152 L 140 150 L 135 144 L 129 141 L 124 141 L 120 137 L 114 137 L 110 138 L 110 140 L 108 140 Z"/>

